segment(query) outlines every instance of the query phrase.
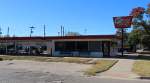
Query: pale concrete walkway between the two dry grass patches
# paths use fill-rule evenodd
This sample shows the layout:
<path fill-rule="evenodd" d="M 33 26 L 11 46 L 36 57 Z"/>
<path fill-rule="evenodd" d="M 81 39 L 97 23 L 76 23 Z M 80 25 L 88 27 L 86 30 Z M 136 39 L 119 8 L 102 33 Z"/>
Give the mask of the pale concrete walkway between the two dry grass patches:
<path fill-rule="evenodd" d="M 100 77 L 104 78 L 125 78 L 133 79 L 139 77 L 132 72 L 132 65 L 134 60 L 119 59 L 118 63 L 114 65 L 110 70 L 100 74 Z"/>

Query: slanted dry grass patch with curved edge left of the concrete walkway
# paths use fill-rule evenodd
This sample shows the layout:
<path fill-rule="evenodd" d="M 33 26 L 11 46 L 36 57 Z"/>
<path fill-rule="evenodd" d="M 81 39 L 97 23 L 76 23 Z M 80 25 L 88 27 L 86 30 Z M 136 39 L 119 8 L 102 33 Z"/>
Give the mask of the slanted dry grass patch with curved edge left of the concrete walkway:
<path fill-rule="evenodd" d="M 117 60 L 98 60 L 91 68 L 87 69 L 84 74 L 88 76 L 95 76 L 97 73 L 109 70 L 117 62 Z"/>

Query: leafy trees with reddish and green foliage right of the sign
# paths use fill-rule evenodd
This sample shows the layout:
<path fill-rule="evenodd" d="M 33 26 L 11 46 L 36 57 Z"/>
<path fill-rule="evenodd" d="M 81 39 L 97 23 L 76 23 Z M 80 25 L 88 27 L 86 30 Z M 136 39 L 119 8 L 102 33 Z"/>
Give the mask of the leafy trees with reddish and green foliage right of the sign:
<path fill-rule="evenodd" d="M 143 46 L 150 48 L 150 4 L 147 8 L 133 8 L 130 15 L 133 16 L 133 30 L 129 34 L 128 43 L 135 46 L 142 43 Z"/>

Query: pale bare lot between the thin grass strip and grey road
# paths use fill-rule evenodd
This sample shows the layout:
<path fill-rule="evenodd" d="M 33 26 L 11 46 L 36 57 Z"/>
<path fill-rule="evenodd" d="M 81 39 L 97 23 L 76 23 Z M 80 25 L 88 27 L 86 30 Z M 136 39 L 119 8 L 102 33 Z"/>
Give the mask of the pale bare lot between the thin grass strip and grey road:
<path fill-rule="evenodd" d="M 8 65 L 13 63 L 13 65 Z M 2 61 L 1 68 L 6 69 L 25 69 L 28 71 L 50 72 L 58 75 L 83 75 L 84 70 L 91 67 L 88 64 L 76 64 L 65 62 L 36 62 L 36 61 Z"/>

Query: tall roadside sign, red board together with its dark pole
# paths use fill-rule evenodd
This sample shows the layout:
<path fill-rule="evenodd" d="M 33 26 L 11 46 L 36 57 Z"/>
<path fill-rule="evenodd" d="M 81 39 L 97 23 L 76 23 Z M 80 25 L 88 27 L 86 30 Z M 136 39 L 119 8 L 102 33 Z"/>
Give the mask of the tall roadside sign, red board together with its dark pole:
<path fill-rule="evenodd" d="M 132 24 L 132 16 L 120 16 L 120 17 L 113 17 L 115 28 L 121 28 L 122 30 L 122 45 L 121 45 L 121 55 L 123 56 L 124 52 L 124 28 L 131 27 Z"/>

